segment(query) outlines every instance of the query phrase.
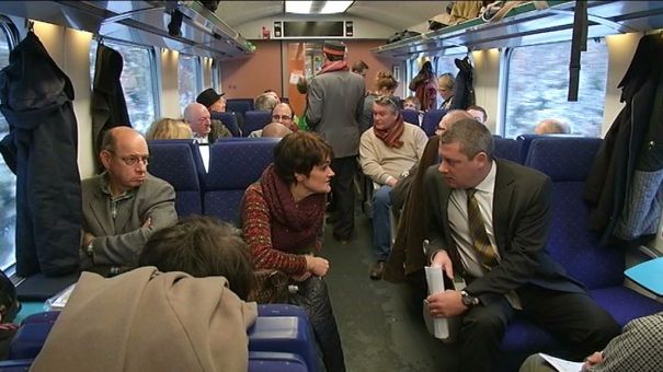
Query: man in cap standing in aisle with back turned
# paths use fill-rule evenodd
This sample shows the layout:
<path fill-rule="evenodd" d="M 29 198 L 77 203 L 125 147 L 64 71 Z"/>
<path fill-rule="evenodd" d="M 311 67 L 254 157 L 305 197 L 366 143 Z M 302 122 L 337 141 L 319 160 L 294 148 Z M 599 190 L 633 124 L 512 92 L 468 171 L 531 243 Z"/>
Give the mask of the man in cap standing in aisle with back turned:
<path fill-rule="evenodd" d="M 347 242 L 354 230 L 354 175 L 359 152 L 358 118 L 364 106 L 364 79 L 350 72 L 345 45 L 324 42 L 324 65 L 308 84 L 306 120 L 334 150 L 332 198 L 338 219 L 334 239 Z"/>

